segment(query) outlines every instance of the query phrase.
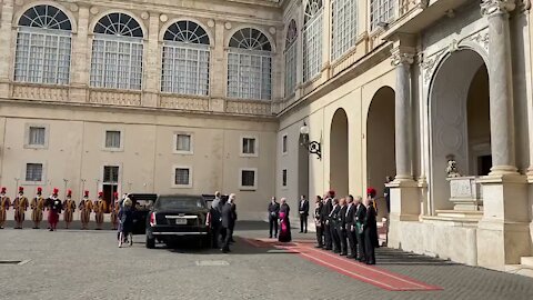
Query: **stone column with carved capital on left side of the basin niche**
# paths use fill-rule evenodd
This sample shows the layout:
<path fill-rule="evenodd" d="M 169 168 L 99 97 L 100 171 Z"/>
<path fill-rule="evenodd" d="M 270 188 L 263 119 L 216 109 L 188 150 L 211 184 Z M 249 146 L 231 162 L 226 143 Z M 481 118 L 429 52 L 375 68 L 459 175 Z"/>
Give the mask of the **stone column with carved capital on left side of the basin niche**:
<path fill-rule="evenodd" d="M 413 180 L 411 154 L 411 64 L 413 51 L 402 48 L 392 50 L 392 64 L 395 66 L 395 143 L 396 181 Z"/>

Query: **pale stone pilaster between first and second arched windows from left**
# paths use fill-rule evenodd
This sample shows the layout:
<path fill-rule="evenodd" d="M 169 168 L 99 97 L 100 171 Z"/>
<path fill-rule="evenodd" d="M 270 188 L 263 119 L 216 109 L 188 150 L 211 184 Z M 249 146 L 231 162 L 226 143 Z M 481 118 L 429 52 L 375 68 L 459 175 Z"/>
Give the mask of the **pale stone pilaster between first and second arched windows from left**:
<path fill-rule="evenodd" d="M 80 3 L 78 12 L 78 29 L 72 37 L 72 62 L 70 69 L 70 101 L 86 102 L 90 63 L 89 51 L 89 7 Z"/>

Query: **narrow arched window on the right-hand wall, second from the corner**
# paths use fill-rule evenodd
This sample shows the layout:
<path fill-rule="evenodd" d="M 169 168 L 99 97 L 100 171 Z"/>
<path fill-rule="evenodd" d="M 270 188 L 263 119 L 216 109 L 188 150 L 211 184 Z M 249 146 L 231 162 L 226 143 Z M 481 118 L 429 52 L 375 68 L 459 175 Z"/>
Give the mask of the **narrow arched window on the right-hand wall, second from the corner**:
<path fill-rule="evenodd" d="M 320 73 L 322 68 L 322 0 L 309 0 L 303 19 L 303 81 Z"/>

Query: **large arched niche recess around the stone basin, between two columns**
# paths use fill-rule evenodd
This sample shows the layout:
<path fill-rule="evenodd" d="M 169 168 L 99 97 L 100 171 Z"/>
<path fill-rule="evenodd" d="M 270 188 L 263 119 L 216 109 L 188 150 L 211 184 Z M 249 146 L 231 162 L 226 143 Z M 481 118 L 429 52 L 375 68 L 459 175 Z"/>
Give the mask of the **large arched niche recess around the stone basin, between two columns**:
<path fill-rule="evenodd" d="M 475 83 L 475 84 L 474 84 Z M 475 93 L 472 89 L 479 89 Z M 476 99 L 482 94 L 483 99 Z M 479 97 L 477 97 L 479 98 Z M 453 154 L 457 162 L 459 171 L 463 176 L 476 176 L 477 171 L 473 157 L 472 127 L 469 121 L 482 123 L 482 136 L 489 138 L 489 116 L 472 117 L 473 109 L 469 111 L 469 103 L 476 101 L 477 113 L 489 113 L 489 78 L 486 61 L 479 51 L 461 47 L 444 56 L 440 61 L 430 82 L 429 90 L 429 137 L 430 161 L 429 180 L 431 210 L 446 210 L 454 206 L 450 201 L 450 184 L 446 181 L 447 156 Z M 470 112 L 470 113 L 469 113 Z M 487 129 L 489 127 L 489 129 Z M 486 147 L 485 147 L 486 148 Z M 486 152 L 486 149 L 483 150 Z"/>

